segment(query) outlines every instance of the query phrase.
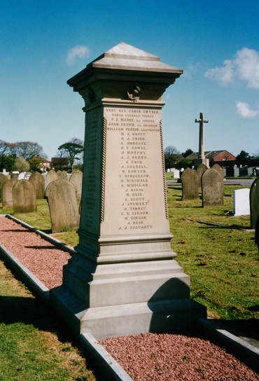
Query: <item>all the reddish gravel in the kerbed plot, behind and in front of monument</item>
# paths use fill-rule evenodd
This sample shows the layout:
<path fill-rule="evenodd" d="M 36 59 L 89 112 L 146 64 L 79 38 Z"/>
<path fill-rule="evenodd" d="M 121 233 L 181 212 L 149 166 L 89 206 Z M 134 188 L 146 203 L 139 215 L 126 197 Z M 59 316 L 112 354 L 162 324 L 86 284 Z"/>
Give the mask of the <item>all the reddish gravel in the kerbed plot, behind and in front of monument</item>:
<path fill-rule="evenodd" d="M 0 242 L 48 289 L 62 284 L 71 257 L 36 233 L 0 218 Z M 258 375 L 208 340 L 169 333 L 100 341 L 134 381 L 255 381 Z"/>

